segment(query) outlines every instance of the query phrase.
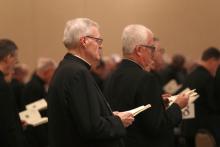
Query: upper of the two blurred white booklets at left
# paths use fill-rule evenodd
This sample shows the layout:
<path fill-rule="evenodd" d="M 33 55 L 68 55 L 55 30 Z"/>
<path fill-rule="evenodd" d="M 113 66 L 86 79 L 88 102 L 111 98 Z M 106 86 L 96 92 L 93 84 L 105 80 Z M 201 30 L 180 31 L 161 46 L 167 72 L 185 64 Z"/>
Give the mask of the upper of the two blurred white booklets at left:
<path fill-rule="evenodd" d="M 47 102 L 44 98 L 25 106 L 26 109 L 44 110 L 47 109 Z"/>

